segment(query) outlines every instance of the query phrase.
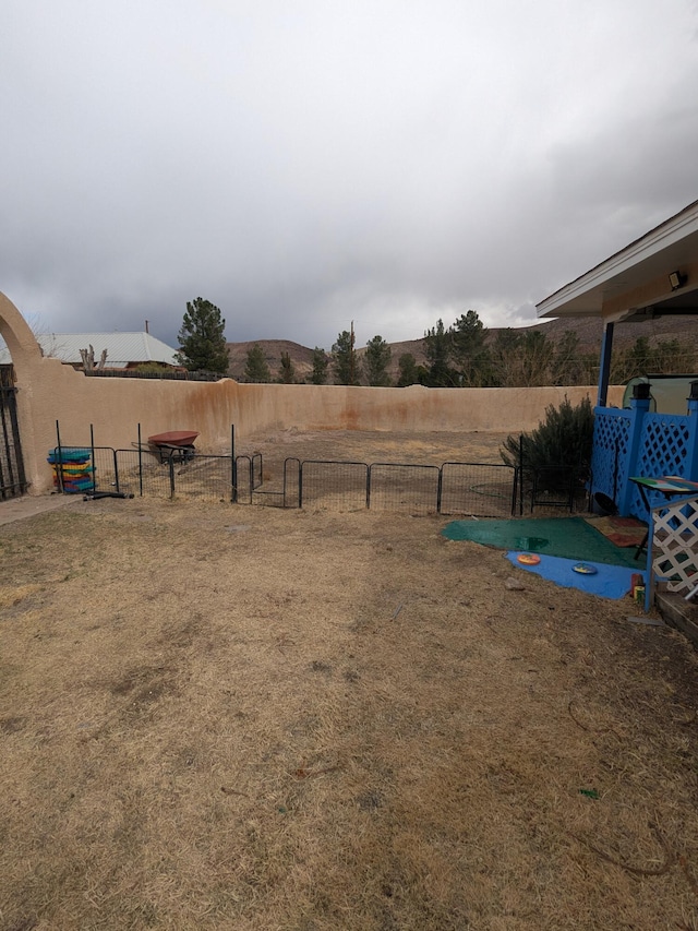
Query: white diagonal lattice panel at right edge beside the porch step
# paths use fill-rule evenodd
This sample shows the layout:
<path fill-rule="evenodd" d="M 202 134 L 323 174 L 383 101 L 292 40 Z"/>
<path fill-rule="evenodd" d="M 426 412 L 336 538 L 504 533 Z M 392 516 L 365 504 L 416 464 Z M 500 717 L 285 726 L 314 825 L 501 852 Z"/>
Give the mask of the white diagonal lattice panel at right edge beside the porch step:
<path fill-rule="evenodd" d="M 679 498 L 650 511 L 647 607 L 657 582 L 691 597 L 698 592 L 698 496 Z M 688 593 L 688 594 L 687 594 Z"/>

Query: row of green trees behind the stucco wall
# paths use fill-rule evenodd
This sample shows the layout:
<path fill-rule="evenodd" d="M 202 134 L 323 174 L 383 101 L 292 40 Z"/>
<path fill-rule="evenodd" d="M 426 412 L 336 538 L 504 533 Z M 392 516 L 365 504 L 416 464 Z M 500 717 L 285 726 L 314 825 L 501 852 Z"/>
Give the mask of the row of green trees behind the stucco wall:
<path fill-rule="evenodd" d="M 180 362 L 190 371 L 226 374 L 225 324 L 219 308 L 210 301 L 198 297 L 188 302 L 179 333 Z M 418 363 L 411 353 L 402 354 L 395 381 L 388 372 L 393 351 L 382 336 L 369 339 L 361 356 L 354 343 L 352 326 L 337 335 L 330 353 L 315 346 L 305 381 L 322 385 L 332 379 L 334 384 L 380 387 L 533 387 L 595 384 L 599 378 L 599 350 L 582 351 L 573 331 L 561 339 L 551 339 L 540 330 L 506 329 L 491 334 L 474 310 L 448 327 L 441 319 L 430 327 L 424 333 L 425 362 Z M 652 344 L 639 336 L 633 346 L 614 349 L 611 383 L 623 384 L 648 372 L 690 372 L 696 363 L 693 343 L 673 338 Z M 258 343 L 248 350 L 243 377 L 248 382 L 299 382 L 288 353 L 281 353 L 278 371 L 272 372 Z"/>

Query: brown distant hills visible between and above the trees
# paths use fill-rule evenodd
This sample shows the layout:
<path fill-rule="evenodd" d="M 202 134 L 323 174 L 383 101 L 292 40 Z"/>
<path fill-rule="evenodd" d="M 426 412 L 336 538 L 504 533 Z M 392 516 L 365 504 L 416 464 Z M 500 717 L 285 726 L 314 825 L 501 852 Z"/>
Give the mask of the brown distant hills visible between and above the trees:
<path fill-rule="evenodd" d="M 600 320 L 592 317 L 579 317 L 567 320 L 539 321 L 530 326 L 517 327 L 517 332 L 529 330 L 541 331 L 549 339 L 557 342 L 565 333 L 573 332 L 579 337 L 579 349 L 581 353 L 594 353 L 601 350 L 601 336 L 603 326 Z M 493 327 L 488 331 L 489 339 L 496 338 L 501 330 Z M 681 339 L 690 342 L 698 346 L 698 317 L 661 317 L 658 320 L 648 320 L 633 323 L 618 323 L 614 332 L 614 347 L 626 348 L 631 346 L 639 336 L 647 336 L 650 343 L 666 339 Z M 228 343 L 230 355 L 229 374 L 238 381 L 244 381 L 244 367 L 248 351 L 258 344 L 264 350 L 272 378 L 276 379 L 281 366 L 281 353 L 288 353 L 296 369 L 297 381 L 310 380 L 313 370 L 313 350 L 290 339 L 254 339 L 248 343 Z M 414 356 L 417 365 L 426 362 L 424 339 L 408 339 L 402 343 L 390 343 L 392 359 L 388 372 L 393 381 L 397 381 L 400 356 L 410 353 Z M 357 355 L 361 357 L 365 347 L 357 347 Z M 332 383 L 332 375 L 328 378 Z"/>

